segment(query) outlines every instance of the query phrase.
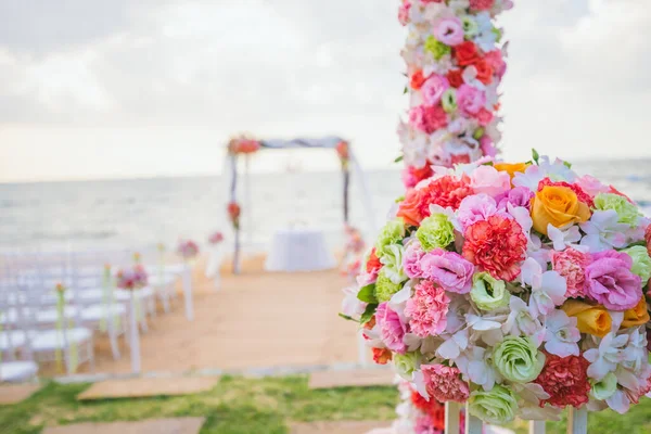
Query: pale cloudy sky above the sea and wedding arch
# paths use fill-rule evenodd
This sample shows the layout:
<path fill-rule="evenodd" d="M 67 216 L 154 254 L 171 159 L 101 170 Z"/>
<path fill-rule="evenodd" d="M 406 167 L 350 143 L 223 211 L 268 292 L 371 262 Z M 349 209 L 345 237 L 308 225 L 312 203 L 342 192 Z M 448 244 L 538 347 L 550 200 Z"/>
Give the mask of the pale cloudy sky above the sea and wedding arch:
<path fill-rule="evenodd" d="M 649 0 L 515 0 L 503 156 L 651 157 Z M 646 3 L 646 4 L 644 4 Z M 0 0 L 0 181 L 219 174 L 228 138 L 395 167 L 398 0 Z M 270 152 L 254 170 L 335 169 Z"/>

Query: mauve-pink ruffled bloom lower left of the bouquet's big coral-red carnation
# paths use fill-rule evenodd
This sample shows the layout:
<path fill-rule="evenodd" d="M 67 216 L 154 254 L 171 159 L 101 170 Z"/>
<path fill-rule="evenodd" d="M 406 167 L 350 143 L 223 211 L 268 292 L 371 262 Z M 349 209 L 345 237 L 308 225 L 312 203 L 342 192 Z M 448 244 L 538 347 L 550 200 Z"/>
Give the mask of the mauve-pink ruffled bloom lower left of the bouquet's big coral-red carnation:
<path fill-rule="evenodd" d="M 474 266 L 456 252 L 435 248 L 426 253 L 420 267 L 425 279 L 457 294 L 468 294 L 472 286 Z"/>

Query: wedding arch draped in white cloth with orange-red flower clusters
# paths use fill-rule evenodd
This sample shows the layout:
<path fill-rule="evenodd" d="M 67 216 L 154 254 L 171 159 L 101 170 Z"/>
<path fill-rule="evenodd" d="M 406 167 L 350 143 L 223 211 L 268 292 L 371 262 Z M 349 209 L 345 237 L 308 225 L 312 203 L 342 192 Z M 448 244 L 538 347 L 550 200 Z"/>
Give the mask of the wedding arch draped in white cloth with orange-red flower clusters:
<path fill-rule="evenodd" d="M 297 138 L 292 140 L 271 139 L 271 140 L 257 140 L 246 136 L 240 136 L 231 139 L 228 143 L 228 158 L 227 164 L 230 175 L 229 180 L 229 202 L 227 205 L 227 213 L 231 225 L 234 230 L 234 246 L 233 246 L 233 273 L 240 272 L 240 252 L 241 252 L 241 235 L 242 225 L 241 217 L 242 213 L 250 213 L 251 210 L 251 182 L 250 182 L 250 157 L 260 151 L 265 150 L 305 150 L 305 149 L 331 149 L 336 152 L 341 162 L 342 178 L 343 178 L 343 224 L 344 227 L 349 226 L 349 191 L 350 191 L 350 175 L 354 174 L 359 180 L 359 187 L 361 189 L 361 204 L 365 207 L 366 218 L 368 219 L 369 228 L 375 231 L 374 213 L 371 204 L 371 196 L 369 193 L 367 180 L 365 174 L 357 161 L 355 153 L 350 146 L 350 143 L 336 136 L 328 136 L 320 139 L 305 139 Z M 239 173 L 239 161 L 244 158 L 244 173 L 242 174 L 244 183 L 244 206 L 239 201 L 239 189 L 238 182 L 240 180 Z M 251 230 L 251 225 L 246 228 Z"/>

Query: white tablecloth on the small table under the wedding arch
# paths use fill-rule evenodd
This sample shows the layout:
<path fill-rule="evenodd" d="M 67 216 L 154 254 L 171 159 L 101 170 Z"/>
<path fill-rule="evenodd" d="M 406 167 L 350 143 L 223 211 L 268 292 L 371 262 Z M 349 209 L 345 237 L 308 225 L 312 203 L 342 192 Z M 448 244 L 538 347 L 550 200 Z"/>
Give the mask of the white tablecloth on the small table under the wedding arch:
<path fill-rule="evenodd" d="M 315 229 L 277 231 L 265 263 L 267 271 L 318 271 L 334 267 L 323 233 Z"/>

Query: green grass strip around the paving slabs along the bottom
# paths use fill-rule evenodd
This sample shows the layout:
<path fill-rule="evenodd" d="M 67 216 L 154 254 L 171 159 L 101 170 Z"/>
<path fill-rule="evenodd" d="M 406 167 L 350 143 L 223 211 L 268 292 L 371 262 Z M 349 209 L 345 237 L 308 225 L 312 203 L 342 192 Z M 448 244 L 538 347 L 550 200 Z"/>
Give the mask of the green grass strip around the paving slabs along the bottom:
<path fill-rule="evenodd" d="M 39 434 L 44 425 L 194 416 L 207 418 L 201 434 L 284 434 L 289 421 L 388 421 L 398 399 L 394 387 L 310 391 L 307 376 L 224 376 L 210 392 L 197 395 L 78 403 L 75 397 L 87 387 L 49 383 L 24 403 L 0 407 L 0 432 Z M 591 414 L 589 422 L 590 434 L 651 433 L 651 400 L 626 416 Z M 526 433 L 523 423 L 512 427 Z M 548 433 L 564 430 L 563 421 L 548 423 Z"/>

